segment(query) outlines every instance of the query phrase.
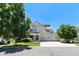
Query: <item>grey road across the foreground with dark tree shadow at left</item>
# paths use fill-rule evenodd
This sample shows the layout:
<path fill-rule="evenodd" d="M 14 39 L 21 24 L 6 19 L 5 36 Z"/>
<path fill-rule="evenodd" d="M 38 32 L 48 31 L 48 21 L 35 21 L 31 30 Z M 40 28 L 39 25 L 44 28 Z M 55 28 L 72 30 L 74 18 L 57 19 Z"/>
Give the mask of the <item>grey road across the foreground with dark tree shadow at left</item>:
<path fill-rule="evenodd" d="M 79 47 L 0 47 L 0 56 L 79 56 Z"/>

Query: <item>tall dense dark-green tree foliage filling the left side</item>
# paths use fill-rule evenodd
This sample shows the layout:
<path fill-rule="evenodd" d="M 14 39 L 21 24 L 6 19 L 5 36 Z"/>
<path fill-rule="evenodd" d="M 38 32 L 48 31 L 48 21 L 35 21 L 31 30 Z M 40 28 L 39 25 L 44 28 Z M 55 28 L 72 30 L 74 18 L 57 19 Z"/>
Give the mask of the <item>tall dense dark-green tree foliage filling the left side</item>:
<path fill-rule="evenodd" d="M 30 29 L 30 18 L 25 19 L 22 3 L 0 4 L 0 36 L 9 39 L 24 38 Z"/>

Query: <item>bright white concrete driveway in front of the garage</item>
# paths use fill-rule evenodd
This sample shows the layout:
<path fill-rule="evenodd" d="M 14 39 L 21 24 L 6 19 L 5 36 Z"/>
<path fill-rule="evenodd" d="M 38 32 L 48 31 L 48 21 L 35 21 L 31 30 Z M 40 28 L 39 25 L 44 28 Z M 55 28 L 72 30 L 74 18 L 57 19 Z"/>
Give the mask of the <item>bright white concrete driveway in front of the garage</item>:
<path fill-rule="evenodd" d="M 75 44 L 61 42 L 40 42 L 41 47 L 76 47 Z"/>

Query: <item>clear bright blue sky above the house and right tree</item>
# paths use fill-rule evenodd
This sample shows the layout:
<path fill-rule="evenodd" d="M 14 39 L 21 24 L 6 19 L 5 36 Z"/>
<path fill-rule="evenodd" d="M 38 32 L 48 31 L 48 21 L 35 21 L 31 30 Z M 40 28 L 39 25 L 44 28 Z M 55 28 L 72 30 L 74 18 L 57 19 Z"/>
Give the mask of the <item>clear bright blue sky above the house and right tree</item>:
<path fill-rule="evenodd" d="M 56 30 L 61 24 L 79 26 L 79 4 L 68 3 L 27 3 L 25 14 L 32 21 L 50 24 Z"/>

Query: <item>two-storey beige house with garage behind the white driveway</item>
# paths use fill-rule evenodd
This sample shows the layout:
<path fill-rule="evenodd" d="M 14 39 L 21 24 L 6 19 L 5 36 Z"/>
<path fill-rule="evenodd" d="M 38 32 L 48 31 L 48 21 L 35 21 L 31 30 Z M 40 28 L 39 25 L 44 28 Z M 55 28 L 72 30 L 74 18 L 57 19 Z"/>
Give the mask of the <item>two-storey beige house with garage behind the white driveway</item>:
<path fill-rule="evenodd" d="M 37 41 L 56 41 L 58 40 L 57 34 L 53 31 L 50 24 L 41 24 L 34 22 L 30 26 L 31 38 Z"/>

